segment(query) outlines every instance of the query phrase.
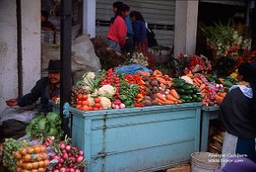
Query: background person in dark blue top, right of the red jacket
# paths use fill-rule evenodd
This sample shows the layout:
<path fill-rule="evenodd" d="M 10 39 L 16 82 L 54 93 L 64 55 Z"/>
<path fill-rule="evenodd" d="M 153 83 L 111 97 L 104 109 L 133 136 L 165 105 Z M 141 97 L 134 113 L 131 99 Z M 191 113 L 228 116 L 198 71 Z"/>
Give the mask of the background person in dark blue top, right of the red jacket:
<path fill-rule="evenodd" d="M 148 52 L 148 39 L 144 17 L 138 11 L 131 11 L 130 17 L 134 34 L 133 41 L 135 48 L 146 54 Z"/>

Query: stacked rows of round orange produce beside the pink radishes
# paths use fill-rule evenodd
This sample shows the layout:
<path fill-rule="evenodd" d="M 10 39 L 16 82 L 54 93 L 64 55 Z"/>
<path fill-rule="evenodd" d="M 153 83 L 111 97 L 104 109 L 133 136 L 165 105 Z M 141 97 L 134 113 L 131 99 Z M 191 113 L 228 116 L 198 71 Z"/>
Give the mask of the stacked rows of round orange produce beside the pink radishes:
<path fill-rule="evenodd" d="M 44 145 L 23 147 L 14 153 L 16 172 L 43 172 L 48 168 L 49 157 Z"/>

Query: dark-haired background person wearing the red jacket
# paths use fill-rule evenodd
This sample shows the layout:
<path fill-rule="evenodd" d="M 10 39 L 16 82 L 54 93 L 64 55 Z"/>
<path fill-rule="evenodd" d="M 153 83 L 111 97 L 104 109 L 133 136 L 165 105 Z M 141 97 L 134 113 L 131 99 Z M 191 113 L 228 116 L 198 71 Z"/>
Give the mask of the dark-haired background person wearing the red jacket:
<path fill-rule="evenodd" d="M 113 7 L 115 16 L 111 19 L 110 28 L 106 34 L 107 43 L 116 52 L 121 52 L 121 48 L 125 46 L 125 38 L 127 27 L 125 24 L 125 10 L 123 3 L 118 2 L 117 7 Z"/>

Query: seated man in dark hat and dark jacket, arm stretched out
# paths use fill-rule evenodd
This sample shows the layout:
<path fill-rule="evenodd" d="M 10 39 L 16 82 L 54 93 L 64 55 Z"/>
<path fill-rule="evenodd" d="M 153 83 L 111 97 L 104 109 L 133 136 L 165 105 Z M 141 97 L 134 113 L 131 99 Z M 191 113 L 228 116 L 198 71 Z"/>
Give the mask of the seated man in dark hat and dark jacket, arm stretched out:
<path fill-rule="evenodd" d="M 50 105 L 49 100 L 53 99 L 54 97 L 59 97 L 60 95 L 61 60 L 50 60 L 48 62 L 48 68 L 45 70 L 48 71 L 48 77 L 42 77 L 40 80 L 38 80 L 29 94 L 18 96 L 16 99 L 6 101 L 6 104 L 9 107 L 18 106 L 18 108 L 22 108 L 19 108 L 19 110 L 16 110 L 17 108 L 9 108 L 7 109 L 8 112 L 3 114 L 3 116 L 0 116 L 1 137 L 4 137 L 3 130 L 6 131 L 6 127 L 12 126 L 14 128 L 13 130 L 18 130 L 19 132 L 23 131 L 29 124 L 29 121 L 34 118 L 35 114 L 47 114 L 48 112 L 52 111 L 52 106 Z M 30 105 L 35 105 L 35 102 L 39 99 L 40 103 L 36 105 L 33 110 L 28 110 L 28 108 L 26 108 Z M 12 129 L 7 131 L 15 132 L 12 131 Z M 13 134 L 17 134 L 16 137 L 8 138 L 19 138 L 22 137 L 24 133 Z"/>

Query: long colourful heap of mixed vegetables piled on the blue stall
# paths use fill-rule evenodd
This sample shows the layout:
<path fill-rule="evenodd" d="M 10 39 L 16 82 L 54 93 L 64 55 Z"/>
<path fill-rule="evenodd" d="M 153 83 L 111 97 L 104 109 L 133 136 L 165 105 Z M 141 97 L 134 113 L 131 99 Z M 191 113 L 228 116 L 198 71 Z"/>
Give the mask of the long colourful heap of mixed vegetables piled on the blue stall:
<path fill-rule="evenodd" d="M 203 106 L 219 106 L 225 95 L 221 93 L 227 93 L 228 89 L 237 83 L 234 78 L 223 79 L 214 74 L 208 77 L 206 74 L 192 71 L 187 71 L 182 77 L 176 78 L 163 75 L 159 70 L 154 70 L 152 73 L 138 71 L 136 74 L 119 73 L 118 75 L 113 69 L 100 71 L 98 75 L 89 73 L 93 77 L 86 77 L 86 83 L 83 83 L 85 78 L 78 82 L 79 86 L 85 85 L 83 90 L 90 90 L 82 94 L 88 98 L 86 101 L 81 100 L 81 93 L 73 97 L 76 103 L 72 106 L 83 111 L 190 102 L 202 102 Z M 90 89 L 87 83 L 97 83 L 98 86 L 89 84 L 93 85 Z M 222 99 L 219 97 L 220 94 Z M 95 103 L 94 99 L 98 98 L 101 101 Z"/>

